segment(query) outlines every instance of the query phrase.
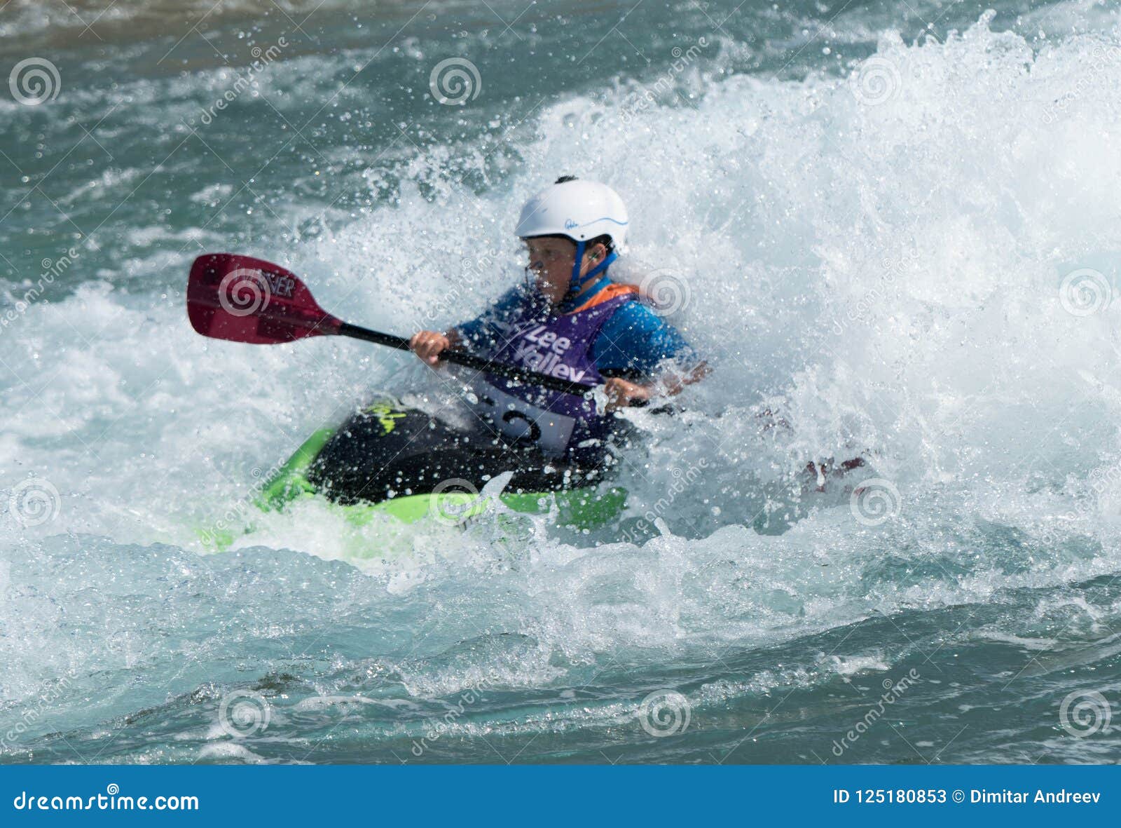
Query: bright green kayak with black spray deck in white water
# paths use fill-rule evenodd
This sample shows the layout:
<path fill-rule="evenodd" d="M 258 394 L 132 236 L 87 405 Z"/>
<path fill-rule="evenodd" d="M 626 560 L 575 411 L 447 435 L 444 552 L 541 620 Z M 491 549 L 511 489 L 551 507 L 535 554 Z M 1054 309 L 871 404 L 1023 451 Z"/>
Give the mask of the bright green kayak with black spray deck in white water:
<path fill-rule="evenodd" d="M 465 525 L 488 509 L 548 514 L 559 525 L 602 526 L 627 493 L 606 485 L 609 467 L 550 460 L 532 447 L 455 430 L 395 399 L 380 399 L 341 425 L 312 434 L 260 490 L 265 512 L 305 498 L 336 504 L 351 523 Z"/>

